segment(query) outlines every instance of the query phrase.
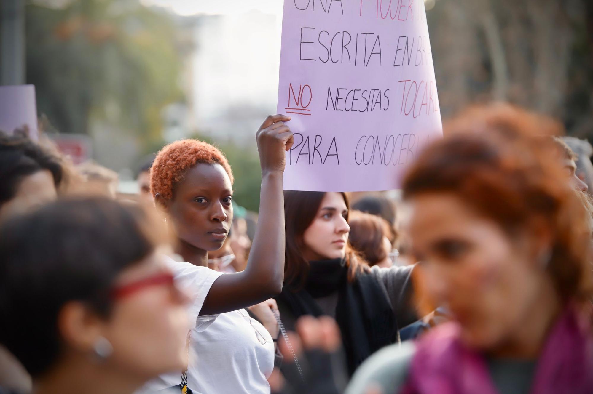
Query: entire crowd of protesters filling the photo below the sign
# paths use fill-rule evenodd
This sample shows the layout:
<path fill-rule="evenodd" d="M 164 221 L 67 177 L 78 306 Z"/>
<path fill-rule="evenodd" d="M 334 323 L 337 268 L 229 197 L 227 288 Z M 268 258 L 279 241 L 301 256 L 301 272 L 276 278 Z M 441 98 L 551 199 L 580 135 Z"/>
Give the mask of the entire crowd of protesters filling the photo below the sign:
<path fill-rule="evenodd" d="M 593 393 L 593 148 L 563 134 L 467 108 L 394 198 L 283 191 L 269 116 L 254 213 L 200 140 L 119 194 L 1 133 L 0 393 Z"/>

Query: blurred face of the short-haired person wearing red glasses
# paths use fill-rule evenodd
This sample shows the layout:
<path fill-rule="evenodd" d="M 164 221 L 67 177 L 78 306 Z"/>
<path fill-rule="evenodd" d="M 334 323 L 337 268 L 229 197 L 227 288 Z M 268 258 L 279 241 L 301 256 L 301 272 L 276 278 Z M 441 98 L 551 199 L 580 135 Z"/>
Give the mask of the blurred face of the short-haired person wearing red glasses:
<path fill-rule="evenodd" d="M 189 297 L 171 282 L 151 282 L 161 274 L 170 272 L 154 253 L 123 271 L 114 287 L 132 290 L 114 300 L 102 335 L 113 346 L 107 360 L 131 376 L 150 379 L 187 365 Z M 149 284 L 138 285 L 145 279 Z"/>

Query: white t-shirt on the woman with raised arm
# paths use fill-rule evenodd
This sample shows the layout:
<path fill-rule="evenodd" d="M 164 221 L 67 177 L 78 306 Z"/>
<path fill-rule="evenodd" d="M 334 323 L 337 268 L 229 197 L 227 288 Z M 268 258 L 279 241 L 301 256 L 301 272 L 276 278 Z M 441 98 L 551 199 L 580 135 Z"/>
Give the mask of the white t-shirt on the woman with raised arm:
<path fill-rule="evenodd" d="M 195 394 L 270 394 L 267 378 L 274 367 L 274 344 L 264 326 L 247 318 L 245 309 L 199 316 L 212 283 L 222 273 L 172 259 L 167 265 L 180 286 L 195 291 L 188 309 L 196 327 L 191 330 L 187 387 Z M 164 374 L 137 393 L 156 392 L 180 382 L 181 371 Z"/>

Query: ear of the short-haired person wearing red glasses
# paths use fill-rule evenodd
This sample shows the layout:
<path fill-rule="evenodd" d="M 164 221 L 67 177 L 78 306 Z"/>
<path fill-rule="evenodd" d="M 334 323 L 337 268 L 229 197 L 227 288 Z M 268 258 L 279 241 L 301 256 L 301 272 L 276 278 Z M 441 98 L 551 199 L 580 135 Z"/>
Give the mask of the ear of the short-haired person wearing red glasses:
<path fill-rule="evenodd" d="M 104 321 L 88 306 L 72 301 L 58 313 L 58 332 L 68 348 L 88 352 L 104 335 Z"/>

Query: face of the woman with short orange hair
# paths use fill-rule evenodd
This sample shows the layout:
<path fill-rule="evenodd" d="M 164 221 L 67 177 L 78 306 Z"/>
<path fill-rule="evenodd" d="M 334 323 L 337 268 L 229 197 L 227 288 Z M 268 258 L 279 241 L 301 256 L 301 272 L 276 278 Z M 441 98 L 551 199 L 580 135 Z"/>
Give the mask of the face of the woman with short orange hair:
<path fill-rule="evenodd" d="M 168 205 L 178 238 L 205 251 L 220 249 L 232 222 L 231 199 L 231 180 L 221 165 L 189 169 Z"/>

